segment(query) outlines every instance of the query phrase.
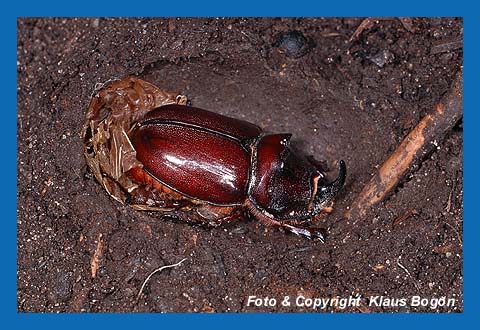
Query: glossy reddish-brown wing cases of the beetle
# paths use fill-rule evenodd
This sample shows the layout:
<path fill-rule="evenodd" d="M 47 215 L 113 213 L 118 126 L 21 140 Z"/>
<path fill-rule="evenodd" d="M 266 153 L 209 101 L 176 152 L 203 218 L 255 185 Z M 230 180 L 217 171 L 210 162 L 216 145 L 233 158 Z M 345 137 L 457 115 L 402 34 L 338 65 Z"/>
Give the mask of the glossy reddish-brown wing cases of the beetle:
<path fill-rule="evenodd" d="M 185 196 L 217 205 L 242 204 L 249 179 L 250 154 L 241 141 L 230 138 L 231 132 L 213 134 L 212 125 L 202 123 L 202 116 L 190 122 L 155 116 L 163 115 L 163 110 L 167 114 L 171 110 L 190 115 L 200 112 L 192 107 L 167 105 L 149 114 L 132 136 L 137 159 L 144 169 Z M 245 131 L 250 128 L 248 123 L 228 119 L 222 128 L 245 127 Z M 256 131 L 251 126 L 252 132 L 246 133 Z"/>

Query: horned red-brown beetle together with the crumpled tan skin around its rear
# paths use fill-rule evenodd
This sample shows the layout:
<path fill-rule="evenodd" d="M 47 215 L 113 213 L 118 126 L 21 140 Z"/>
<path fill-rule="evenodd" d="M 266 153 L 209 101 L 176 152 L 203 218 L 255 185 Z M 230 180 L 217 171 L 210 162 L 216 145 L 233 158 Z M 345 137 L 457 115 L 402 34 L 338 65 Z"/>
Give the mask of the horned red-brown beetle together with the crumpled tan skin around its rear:
<path fill-rule="evenodd" d="M 186 97 L 135 77 L 93 97 L 82 131 L 87 164 L 117 201 L 190 223 L 218 226 L 247 215 L 325 241 L 308 224 L 331 211 L 345 162 L 327 182 L 291 134 L 186 106 Z"/>

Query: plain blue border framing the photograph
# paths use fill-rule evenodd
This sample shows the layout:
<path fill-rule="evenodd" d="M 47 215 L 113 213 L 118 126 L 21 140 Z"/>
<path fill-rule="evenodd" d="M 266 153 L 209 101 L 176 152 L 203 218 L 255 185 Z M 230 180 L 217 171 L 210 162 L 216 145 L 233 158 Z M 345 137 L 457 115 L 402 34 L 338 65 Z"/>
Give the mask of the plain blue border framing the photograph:
<path fill-rule="evenodd" d="M 465 1 L 466 2 L 466 1 Z M 475 260 L 477 246 L 473 235 L 478 230 L 474 205 L 477 202 L 474 187 L 478 186 L 475 174 L 476 124 L 479 112 L 478 103 L 472 97 L 478 74 L 478 23 L 474 5 L 461 1 L 402 1 L 388 3 L 375 1 L 343 1 L 319 3 L 315 1 L 181 1 L 160 6 L 160 1 L 144 1 L 137 7 L 132 1 L 118 0 L 112 3 L 101 1 L 22 1 L 10 4 L 4 9 L 1 20 L 3 47 L 3 127 L 0 130 L 4 161 L 2 170 L 4 183 L 2 193 L 3 225 L 2 250 L 4 251 L 4 271 L 2 280 L 3 297 L 1 313 L 3 323 L 12 323 L 15 328 L 50 328 L 67 326 L 68 328 L 121 327 L 242 327 L 248 325 L 268 326 L 269 328 L 287 327 L 328 327 L 328 326 L 366 326 L 401 328 L 418 326 L 428 328 L 452 328 L 460 324 L 473 324 L 477 307 L 478 284 L 476 282 Z M 16 288 L 16 198 L 17 198 L 17 147 L 16 128 L 16 20 L 22 16 L 462 16 L 464 18 L 464 312 L 460 314 L 23 314 L 17 313 Z M 465 51 L 465 50 L 468 50 Z M 15 86 L 15 91 L 13 90 Z M 15 193 L 14 193 L 15 192 Z M 385 322 L 385 324 L 378 323 Z"/>

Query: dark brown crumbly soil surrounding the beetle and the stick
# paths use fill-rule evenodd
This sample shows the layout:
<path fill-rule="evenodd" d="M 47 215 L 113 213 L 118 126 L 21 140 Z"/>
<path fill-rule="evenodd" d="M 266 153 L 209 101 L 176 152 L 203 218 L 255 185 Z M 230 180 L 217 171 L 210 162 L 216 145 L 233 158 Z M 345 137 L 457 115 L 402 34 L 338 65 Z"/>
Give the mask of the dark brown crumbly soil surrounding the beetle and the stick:
<path fill-rule="evenodd" d="M 343 214 L 449 90 L 463 62 L 463 22 L 383 19 L 348 43 L 361 21 L 19 19 L 18 310 L 462 311 L 462 123 L 367 217 Z M 289 42 L 289 31 L 301 34 Z M 80 131 L 95 88 L 127 75 L 293 133 L 330 177 L 344 159 L 346 185 L 316 224 L 327 243 L 252 219 L 195 227 L 110 198 L 86 166 Z M 137 299 L 151 272 L 182 259 Z M 295 305 L 358 295 L 359 306 L 345 309 Z M 277 305 L 249 306 L 249 296 Z M 370 305 L 370 296 L 391 301 Z M 416 307 L 412 296 L 455 304 Z"/>

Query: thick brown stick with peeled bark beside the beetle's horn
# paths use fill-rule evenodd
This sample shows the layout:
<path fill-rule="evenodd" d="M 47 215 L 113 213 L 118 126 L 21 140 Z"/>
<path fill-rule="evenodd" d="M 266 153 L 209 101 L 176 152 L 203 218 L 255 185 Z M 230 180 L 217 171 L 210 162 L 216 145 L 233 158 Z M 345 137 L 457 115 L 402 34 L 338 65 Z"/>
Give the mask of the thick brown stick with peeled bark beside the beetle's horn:
<path fill-rule="evenodd" d="M 462 118 L 462 103 L 463 73 L 460 70 L 449 92 L 403 139 L 364 186 L 344 216 L 357 222 L 365 217 L 373 205 L 382 201 L 397 186 L 407 170 L 421 162 L 458 123 Z"/>

